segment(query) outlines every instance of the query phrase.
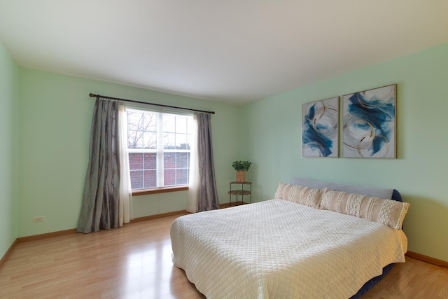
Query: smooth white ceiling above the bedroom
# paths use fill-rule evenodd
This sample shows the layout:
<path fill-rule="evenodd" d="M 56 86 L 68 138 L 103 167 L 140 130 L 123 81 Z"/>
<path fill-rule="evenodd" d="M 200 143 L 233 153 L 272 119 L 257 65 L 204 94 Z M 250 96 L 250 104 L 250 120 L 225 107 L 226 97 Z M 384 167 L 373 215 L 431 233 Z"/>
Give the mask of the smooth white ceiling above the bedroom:
<path fill-rule="evenodd" d="M 0 0 L 0 41 L 23 67 L 244 104 L 447 43 L 448 1 Z"/>

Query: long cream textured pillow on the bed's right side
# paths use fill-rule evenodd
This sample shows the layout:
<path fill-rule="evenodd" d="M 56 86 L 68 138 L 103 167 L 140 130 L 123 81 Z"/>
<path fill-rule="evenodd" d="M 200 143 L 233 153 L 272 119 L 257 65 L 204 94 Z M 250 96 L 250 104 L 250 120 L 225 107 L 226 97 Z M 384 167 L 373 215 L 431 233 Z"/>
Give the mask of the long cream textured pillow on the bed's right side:
<path fill-rule="evenodd" d="M 319 209 L 357 216 L 400 230 L 409 206 L 407 202 L 383 200 L 325 188 Z"/>

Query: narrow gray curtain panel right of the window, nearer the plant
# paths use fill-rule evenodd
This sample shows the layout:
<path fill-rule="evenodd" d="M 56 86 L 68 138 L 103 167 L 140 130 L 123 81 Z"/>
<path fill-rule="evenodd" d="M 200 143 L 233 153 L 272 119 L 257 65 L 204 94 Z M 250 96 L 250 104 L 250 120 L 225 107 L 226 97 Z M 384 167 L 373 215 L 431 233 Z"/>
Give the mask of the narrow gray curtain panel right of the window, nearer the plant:
<path fill-rule="evenodd" d="M 210 113 L 197 113 L 197 155 L 199 164 L 198 211 L 219 209 L 213 148 L 211 146 L 210 120 Z"/>

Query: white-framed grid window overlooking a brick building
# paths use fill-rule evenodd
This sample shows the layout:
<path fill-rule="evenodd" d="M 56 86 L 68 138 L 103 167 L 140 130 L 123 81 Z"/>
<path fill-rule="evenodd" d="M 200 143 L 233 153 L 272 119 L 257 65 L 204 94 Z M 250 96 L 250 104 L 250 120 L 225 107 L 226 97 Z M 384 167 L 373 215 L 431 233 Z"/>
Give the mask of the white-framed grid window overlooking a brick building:
<path fill-rule="evenodd" d="M 188 185 L 193 116 L 126 110 L 132 190 Z"/>

